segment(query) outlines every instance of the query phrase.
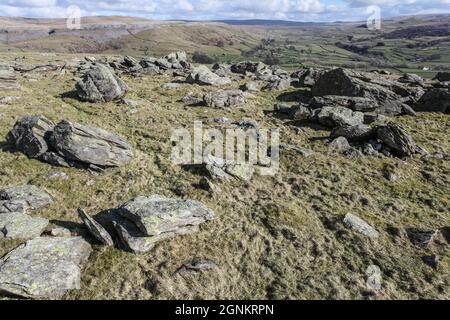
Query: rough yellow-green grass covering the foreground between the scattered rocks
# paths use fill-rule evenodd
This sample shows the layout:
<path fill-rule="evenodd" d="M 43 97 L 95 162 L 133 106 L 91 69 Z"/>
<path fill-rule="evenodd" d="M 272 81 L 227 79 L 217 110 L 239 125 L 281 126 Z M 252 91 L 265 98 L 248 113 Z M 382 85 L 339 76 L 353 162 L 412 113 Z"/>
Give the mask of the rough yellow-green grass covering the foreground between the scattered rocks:
<path fill-rule="evenodd" d="M 7 61 L 14 57 L 1 56 Z M 39 54 L 26 57 L 26 63 L 51 59 Z M 57 56 L 59 60 L 72 58 Z M 61 98 L 74 88 L 70 74 L 56 78 L 46 74 L 38 79 L 21 79 L 22 90 L 8 93 L 22 99 L 0 106 L 1 137 L 20 115 L 43 114 L 54 121 L 64 118 L 119 133 L 133 144 L 137 156 L 122 168 L 94 175 L 52 167 L 19 153 L 0 153 L 0 187 L 32 183 L 54 196 L 51 207 L 33 215 L 88 236 L 76 215 L 77 207 L 98 213 L 137 195 L 193 198 L 217 213 L 215 221 L 201 232 L 165 241 L 145 255 L 95 246 L 81 290 L 65 298 L 450 298 L 448 231 L 447 239 L 440 236 L 427 250 L 412 246 L 401 232 L 410 226 L 450 226 L 448 161 L 354 160 L 329 154 L 326 143 L 316 139 L 326 137 L 327 131 L 303 127 L 297 134 L 287 120 L 265 113 L 277 101 L 276 93 L 260 93 L 243 109 L 212 110 L 177 102 L 190 91 L 200 94 L 209 88 L 187 86 L 167 91 L 160 88 L 171 80 L 167 76 L 126 77 L 131 88 L 128 97 L 145 101 L 136 113 L 130 113 L 116 103 Z M 194 187 L 200 176 L 170 162 L 169 139 L 173 128 L 191 128 L 194 120 L 212 126 L 208 120 L 220 116 L 250 117 L 263 127 L 280 127 L 282 142 L 315 153 L 303 158 L 282 152 L 276 176 L 219 184 L 221 191 L 211 195 Z M 396 119 L 424 148 L 446 152 L 450 151 L 449 120 L 442 114 Z M 396 182 L 384 179 L 386 166 L 397 166 L 401 178 Z M 47 179 L 53 172 L 65 172 L 70 179 Z M 426 180 L 424 172 L 433 178 Z M 369 204 L 363 205 L 363 198 Z M 347 212 L 374 225 L 381 232 L 380 239 L 371 242 L 343 227 L 341 220 Z M 400 236 L 392 235 L 392 227 L 400 228 Z M 0 255 L 18 243 L 2 240 Z M 443 257 L 437 271 L 421 261 L 422 255 L 431 253 Z M 218 270 L 173 276 L 194 256 L 215 261 Z M 383 272 L 383 289 L 377 296 L 371 296 L 365 286 L 365 270 L 371 264 L 379 265 Z"/>

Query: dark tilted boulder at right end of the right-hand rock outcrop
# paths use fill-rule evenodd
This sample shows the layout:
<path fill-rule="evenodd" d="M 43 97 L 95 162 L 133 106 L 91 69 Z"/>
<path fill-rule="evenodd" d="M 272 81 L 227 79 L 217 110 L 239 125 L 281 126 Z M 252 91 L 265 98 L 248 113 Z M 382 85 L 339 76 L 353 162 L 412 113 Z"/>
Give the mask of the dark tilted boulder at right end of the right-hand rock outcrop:
<path fill-rule="evenodd" d="M 377 128 L 377 136 L 385 145 L 400 157 L 408 157 L 417 153 L 417 145 L 401 126 L 388 123 Z"/>

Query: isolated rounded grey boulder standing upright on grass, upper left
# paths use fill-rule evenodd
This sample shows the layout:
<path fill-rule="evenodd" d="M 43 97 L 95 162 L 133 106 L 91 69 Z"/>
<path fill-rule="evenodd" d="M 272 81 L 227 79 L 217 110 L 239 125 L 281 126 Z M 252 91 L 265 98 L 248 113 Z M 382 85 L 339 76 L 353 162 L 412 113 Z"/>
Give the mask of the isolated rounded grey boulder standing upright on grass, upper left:
<path fill-rule="evenodd" d="M 76 84 L 77 95 L 89 102 L 109 102 L 122 98 L 128 87 L 107 66 L 93 64 Z"/>

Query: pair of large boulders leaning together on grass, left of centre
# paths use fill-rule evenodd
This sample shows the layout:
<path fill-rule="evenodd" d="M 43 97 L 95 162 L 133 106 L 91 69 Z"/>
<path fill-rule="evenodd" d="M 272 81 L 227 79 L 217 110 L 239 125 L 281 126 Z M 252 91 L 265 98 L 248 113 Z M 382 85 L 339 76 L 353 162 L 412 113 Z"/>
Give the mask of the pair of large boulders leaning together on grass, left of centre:
<path fill-rule="evenodd" d="M 133 158 L 132 147 L 118 135 L 66 120 L 55 125 L 42 115 L 21 117 L 7 142 L 29 158 L 66 167 L 102 169 Z"/>

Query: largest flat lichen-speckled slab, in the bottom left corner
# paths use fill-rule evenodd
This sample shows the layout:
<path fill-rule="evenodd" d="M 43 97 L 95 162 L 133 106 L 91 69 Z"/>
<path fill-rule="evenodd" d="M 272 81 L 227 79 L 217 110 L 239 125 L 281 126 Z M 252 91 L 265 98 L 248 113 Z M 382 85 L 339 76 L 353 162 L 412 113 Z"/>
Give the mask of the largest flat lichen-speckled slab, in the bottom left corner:
<path fill-rule="evenodd" d="M 40 237 L 0 259 L 0 293 L 25 298 L 58 298 L 80 288 L 81 270 L 91 254 L 81 237 Z"/>

